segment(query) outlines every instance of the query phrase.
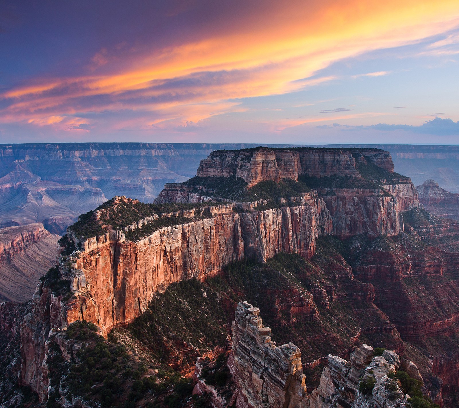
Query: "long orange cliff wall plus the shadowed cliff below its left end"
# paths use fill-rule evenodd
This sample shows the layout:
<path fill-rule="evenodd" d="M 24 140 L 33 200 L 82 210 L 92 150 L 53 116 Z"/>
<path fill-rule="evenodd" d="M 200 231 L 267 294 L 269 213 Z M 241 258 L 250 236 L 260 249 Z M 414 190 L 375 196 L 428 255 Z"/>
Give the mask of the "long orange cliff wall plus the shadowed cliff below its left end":
<path fill-rule="evenodd" d="M 244 258 L 265 262 L 279 252 L 311 257 L 316 238 L 331 231 L 330 215 L 317 198 L 262 212 L 218 208 L 208 209 L 212 218 L 162 228 L 137 242 L 112 231 L 82 243 L 83 252 L 61 257 L 60 271 L 72 296 L 56 295 L 39 283 L 34 312 L 22 327 L 22 383 L 45 398 L 40 379 L 49 330 L 85 319 L 106 335 L 139 316 L 155 292 L 172 282 L 205 279 Z"/>

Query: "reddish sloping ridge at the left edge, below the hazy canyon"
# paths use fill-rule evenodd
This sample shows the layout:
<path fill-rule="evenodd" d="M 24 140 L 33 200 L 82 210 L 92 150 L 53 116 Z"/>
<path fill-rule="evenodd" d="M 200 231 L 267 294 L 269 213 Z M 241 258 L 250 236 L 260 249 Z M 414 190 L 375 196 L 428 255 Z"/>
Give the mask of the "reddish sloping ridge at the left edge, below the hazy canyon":
<path fill-rule="evenodd" d="M 58 239 L 42 224 L 0 229 L 0 300 L 32 297 L 39 277 L 56 265 Z"/>

